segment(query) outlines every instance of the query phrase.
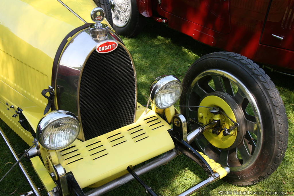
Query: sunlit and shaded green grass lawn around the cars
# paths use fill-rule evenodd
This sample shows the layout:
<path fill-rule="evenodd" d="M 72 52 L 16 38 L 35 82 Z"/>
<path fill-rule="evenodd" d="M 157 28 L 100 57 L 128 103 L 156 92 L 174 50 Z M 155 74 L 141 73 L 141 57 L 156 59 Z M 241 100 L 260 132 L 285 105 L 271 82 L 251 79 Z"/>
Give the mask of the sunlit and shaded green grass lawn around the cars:
<path fill-rule="evenodd" d="M 123 38 L 123 41 L 134 59 L 138 81 L 138 101 L 141 104 L 147 103 L 146 96 L 148 96 L 149 85 L 156 77 L 170 74 L 175 75 L 182 81 L 187 69 L 197 58 L 217 51 L 217 49 L 198 43 L 182 33 L 173 31 L 163 24 L 153 21 L 146 24 L 146 28 L 140 35 L 135 38 Z M 240 187 L 219 180 L 204 187 L 194 195 L 218 195 L 218 191 L 265 192 L 294 190 L 294 88 L 291 83 L 294 77 L 266 71 L 280 91 L 288 115 L 289 142 L 284 160 L 268 179 L 256 185 Z M 10 141 L 16 145 L 17 153 L 21 153 L 28 148 L 27 145 L 19 142 L 20 140 L 17 140 L 16 134 L 5 127 L 3 123 L 1 128 L 5 130 Z M 0 147 L 0 177 L 2 177 L 12 166 L 11 163 L 15 163 L 15 160 L 1 139 Z M 34 180 L 37 180 L 29 163 L 24 161 L 24 164 Z M 142 176 L 142 179 L 158 195 L 164 196 L 177 195 L 205 178 L 206 174 L 203 170 L 183 155 Z M 40 185 L 40 182 L 37 182 L 37 184 Z M 8 195 L 15 190 L 16 192 L 13 195 L 23 194 L 30 190 L 18 167 L 14 168 L 12 173 L 0 183 L 0 195 Z M 137 196 L 148 194 L 138 182 L 132 181 L 105 195 Z"/>

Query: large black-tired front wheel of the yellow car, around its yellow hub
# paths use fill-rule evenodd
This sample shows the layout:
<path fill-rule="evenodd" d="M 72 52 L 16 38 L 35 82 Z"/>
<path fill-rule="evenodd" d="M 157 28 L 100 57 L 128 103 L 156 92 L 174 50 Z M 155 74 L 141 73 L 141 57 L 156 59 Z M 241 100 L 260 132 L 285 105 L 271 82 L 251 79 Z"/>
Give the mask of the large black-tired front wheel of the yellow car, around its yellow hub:
<path fill-rule="evenodd" d="M 236 87 L 238 89 L 234 90 Z M 229 183 L 252 185 L 264 180 L 280 165 L 288 144 L 287 115 L 274 83 L 250 59 L 235 53 L 216 52 L 199 58 L 188 69 L 183 79 L 180 105 L 200 105 L 203 98 L 212 95 L 229 103 L 239 123 L 236 139 L 231 146 L 217 146 L 215 138 L 229 136 L 223 136 L 222 132 L 213 139 L 201 135 L 195 140 L 199 150 L 230 168 L 230 173 L 224 177 Z M 253 110 L 251 115 L 248 105 Z M 200 108 L 180 109 L 187 119 L 201 121 L 203 118 L 202 113 L 198 113 Z M 191 131 L 195 127 L 190 125 L 188 129 Z"/>

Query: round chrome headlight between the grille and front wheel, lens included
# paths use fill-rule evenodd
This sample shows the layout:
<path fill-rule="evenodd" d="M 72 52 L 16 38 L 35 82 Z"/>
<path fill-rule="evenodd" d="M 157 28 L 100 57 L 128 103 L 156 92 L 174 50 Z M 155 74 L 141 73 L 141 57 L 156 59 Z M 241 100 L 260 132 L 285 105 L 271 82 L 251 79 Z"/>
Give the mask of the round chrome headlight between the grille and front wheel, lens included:
<path fill-rule="evenodd" d="M 171 107 L 180 98 L 183 87 L 175 76 L 160 76 L 150 86 L 149 98 L 156 108 Z"/>

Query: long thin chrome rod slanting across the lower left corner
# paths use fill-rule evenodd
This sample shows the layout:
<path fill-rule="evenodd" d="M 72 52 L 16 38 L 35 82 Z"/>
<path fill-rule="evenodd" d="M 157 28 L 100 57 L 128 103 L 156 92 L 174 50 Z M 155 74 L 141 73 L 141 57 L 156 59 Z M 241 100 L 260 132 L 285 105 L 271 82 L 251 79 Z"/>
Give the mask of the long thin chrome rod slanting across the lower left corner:
<path fill-rule="evenodd" d="M 0 127 L 0 133 L 6 143 L 6 145 L 8 146 L 9 150 L 11 151 L 11 153 L 13 154 L 14 158 L 16 159 L 16 161 L 19 160 L 19 157 L 17 156 L 16 152 L 14 151 L 13 147 L 11 146 L 8 138 L 6 137 L 5 133 L 3 132 L 3 130 Z M 26 177 L 26 180 L 29 182 L 29 185 L 32 189 L 32 192 L 34 193 L 34 195 L 36 196 L 42 196 L 40 190 L 38 189 L 38 187 L 36 187 L 35 183 L 33 182 L 33 180 L 31 179 L 28 171 L 26 170 L 26 168 L 24 167 L 24 165 L 21 163 L 21 161 L 19 162 L 19 167 L 21 169 L 21 171 L 24 173 L 24 176 Z"/>

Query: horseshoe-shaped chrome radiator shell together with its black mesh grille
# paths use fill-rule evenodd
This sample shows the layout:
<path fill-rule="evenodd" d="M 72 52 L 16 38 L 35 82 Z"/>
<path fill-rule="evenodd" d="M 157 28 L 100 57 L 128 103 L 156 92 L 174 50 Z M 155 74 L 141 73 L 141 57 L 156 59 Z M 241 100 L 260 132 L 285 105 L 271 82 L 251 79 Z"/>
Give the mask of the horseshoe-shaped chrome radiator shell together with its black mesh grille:
<path fill-rule="evenodd" d="M 57 67 L 58 109 L 78 116 L 80 140 L 88 140 L 134 123 L 137 106 L 136 71 L 130 53 L 118 43 L 109 53 L 98 53 L 88 29 L 78 33 L 64 49 Z M 126 91 L 126 88 L 128 90 Z"/>

